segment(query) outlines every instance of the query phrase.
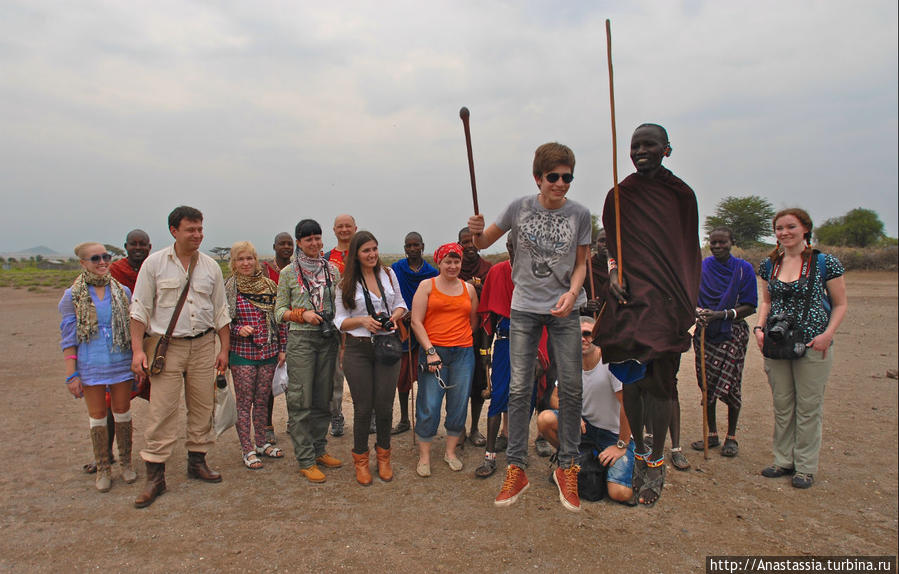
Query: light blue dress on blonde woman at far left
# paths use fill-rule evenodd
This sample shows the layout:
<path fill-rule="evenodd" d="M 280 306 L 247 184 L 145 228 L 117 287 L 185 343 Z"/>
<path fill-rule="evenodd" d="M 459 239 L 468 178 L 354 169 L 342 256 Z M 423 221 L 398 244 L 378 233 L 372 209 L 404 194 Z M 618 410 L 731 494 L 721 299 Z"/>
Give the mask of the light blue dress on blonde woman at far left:
<path fill-rule="evenodd" d="M 131 372 L 131 349 L 122 351 L 112 345 L 112 299 L 109 285 L 106 287 L 106 296 L 100 301 L 97 292 L 92 285 L 88 285 L 91 300 L 97 309 L 98 336 L 90 341 L 79 343 L 75 334 L 75 304 L 72 303 L 72 290 L 66 289 L 59 301 L 59 312 L 62 321 L 59 330 L 62 333 L 60 348 L 78 348 L 78 372 L 81 375 L 83 385 L 114 385 L 134 378 Z M 131 290 L 122 286 L 128 300 L 131 300 Z"/>

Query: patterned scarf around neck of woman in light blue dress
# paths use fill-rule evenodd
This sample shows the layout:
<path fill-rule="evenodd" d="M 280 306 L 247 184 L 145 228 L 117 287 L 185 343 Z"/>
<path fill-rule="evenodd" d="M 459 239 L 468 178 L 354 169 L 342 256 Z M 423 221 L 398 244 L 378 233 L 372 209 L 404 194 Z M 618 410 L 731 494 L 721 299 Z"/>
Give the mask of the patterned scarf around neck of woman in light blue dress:
<path fill-rule="evenodd" d="M 112 317 L 112 344 L 115 348 L 126 351 L 131 348 L 131 331 L 129 330 L 128 307 L 130 305 L 125 290 L 118 281 L 109 274 L 97 275 L 84 270 L 72 283 L 72 303 L 75 305 L 76 334 L 79 343 L 86 343 L 97 336 L 99 325 L 97 324 L 97 309 L 91 299 L 88 285 L 106 288 L 110 286 L 111 300 L 109 302 Z"/>

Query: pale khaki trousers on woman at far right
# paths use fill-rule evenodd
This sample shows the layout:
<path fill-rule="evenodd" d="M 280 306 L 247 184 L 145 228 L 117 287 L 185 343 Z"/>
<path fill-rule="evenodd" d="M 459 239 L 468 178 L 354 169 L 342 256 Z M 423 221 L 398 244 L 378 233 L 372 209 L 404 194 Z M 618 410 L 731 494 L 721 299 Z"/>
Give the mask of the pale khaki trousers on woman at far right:
<path fill-rule="evenodd" d="M 774 398 L 774 464 L 816 474 L 821 450 L 824 387 L 833 365 L 833 347 L 827 357 L 809 349 L 799 359 L 765 359 L 765 372 Z"/>

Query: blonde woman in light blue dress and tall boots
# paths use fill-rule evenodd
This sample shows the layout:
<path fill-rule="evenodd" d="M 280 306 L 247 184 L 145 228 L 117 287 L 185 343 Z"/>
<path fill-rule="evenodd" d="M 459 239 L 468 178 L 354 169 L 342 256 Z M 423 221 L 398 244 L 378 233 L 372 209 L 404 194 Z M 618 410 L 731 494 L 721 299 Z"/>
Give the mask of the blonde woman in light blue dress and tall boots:
<path fill-rule="evenodd" d="M 91 444 L 97 461 L 97 490 L 112 486 L 109 431 L 106 428 L 106 391 L 115 420 L 122 479 L 137 480 L 131 467 L 131 334 L 128 307 L 131 291 L 109 274 L 112 257 L 100 243 L 75 247 L 81 274 L 59 301 L 60 347 L 65 359 L 65 384 L 75 398 L 83 398 L 90 417 Z"/>

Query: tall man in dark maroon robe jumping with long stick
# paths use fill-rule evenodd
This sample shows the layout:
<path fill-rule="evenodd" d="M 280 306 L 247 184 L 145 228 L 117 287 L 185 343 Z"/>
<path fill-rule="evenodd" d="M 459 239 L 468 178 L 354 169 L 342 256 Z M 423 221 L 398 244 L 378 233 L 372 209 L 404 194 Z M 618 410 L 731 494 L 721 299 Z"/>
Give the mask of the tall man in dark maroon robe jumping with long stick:
<path fill-rule="evenodd" d="M 662 167 L 670 155 L 665 128 L 643 124 L 634 131 L 631 161 L 637 173 L 619 185 L 621 284 L 612 191 L 602 217 L 609 295 L 596 342 L 603 362 L 611 363 L 613 374 L 625 383 L 624 408 L 636 445 L 634 496 L 646 505 L 655 504 L 665 483 L 665 437 L 681 353 L 690 347 L 701 270 L 696 195 Z M 644 422 L 655 430 L 652 445 L 644 444 Z"/>

